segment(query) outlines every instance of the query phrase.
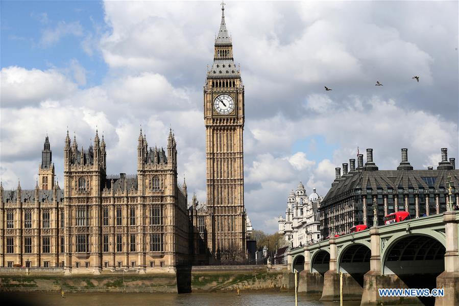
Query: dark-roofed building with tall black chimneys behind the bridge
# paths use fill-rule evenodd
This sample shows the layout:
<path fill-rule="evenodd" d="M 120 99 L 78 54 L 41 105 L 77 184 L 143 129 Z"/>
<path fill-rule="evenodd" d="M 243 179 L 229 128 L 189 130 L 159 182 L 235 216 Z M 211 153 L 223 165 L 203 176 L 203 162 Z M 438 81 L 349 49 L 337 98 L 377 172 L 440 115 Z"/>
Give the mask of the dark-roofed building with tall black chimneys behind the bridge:
<path fill-rule="evenodd" d="M 385 215 L 396 211 L 408 211 L 410 218 L 443 213 L 447 210 L 447 181 L 453 182 L 452 202 L 459 207 L 459 171 L 455 160 L 448 161 L 447 149 L 442 149 L 442 161 L 436 170 L 413 170 L 408 162 L 408 150 L 401 149 L 402 160 L 397 170 L 379 170 L 373 162 L 373 149 L 367 149 L 364 166 L 363 154 L 341 169 L 336 168 L 336 179 L 322 202 L 322 237 L 348 233 L 358 224 L 373 226 L 374 209 L 376 222 L 383 225 Z"/>

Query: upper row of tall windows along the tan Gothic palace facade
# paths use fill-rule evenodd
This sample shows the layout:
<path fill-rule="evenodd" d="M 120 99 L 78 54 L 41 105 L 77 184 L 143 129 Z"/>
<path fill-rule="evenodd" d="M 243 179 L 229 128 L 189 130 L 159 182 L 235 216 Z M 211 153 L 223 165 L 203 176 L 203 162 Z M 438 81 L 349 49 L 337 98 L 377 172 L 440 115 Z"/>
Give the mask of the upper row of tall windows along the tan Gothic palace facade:
<path fill-rule="evenodd" d="M 135 225 L 135 207 L 130 208 L 129 224 Z M 14 211 L 7 211 L 7 228 L 14 228 Z M 108 208 L 103 209 L 102 221 L 103 225 L 109 225 Z M 60 227 L 64 227 L 64 211 L 61 211 Z M 88 225 L 88 214 L 86 207 L 77 208 L 77 225 Z M 123 225 L 123 210 L 121 207 L 116 208 L 116 225 Z M 152 206 L 150 209 L 150 225 L 161 225 L 161 207 Z M 42 227 L 50 228 L 50 210 L 45 209 L 42 211 Z M 32 228 L 32 210 L 27 209 L 24 211 L 24 228 Z"/>

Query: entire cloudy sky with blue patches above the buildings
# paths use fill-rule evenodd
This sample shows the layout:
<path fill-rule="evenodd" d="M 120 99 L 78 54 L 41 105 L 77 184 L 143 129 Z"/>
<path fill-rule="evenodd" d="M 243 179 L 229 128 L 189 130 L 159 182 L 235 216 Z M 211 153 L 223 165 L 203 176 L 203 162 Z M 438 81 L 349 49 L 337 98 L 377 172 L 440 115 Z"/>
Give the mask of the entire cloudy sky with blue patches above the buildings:
<path fill-rule="evenodd" d="M 4 187 L 35 186 L 46 133 L 62 182 L 67 127 L 87 148 L 97 126 L 107 172 L 132 174 L 140 125 L 152 146 L 165 146 L 172 126 L 179 178 L 203 201 L 202 86 L 220 3 L 1 1 Z M 373 148 L 379 169 L 395 169 L 401 148 L 416 169 L 437 166 L 441 148 L 459 157 L 458 10 L 456 1 L 227 3 L 254 228 L 276 231 L 300 180 L 325 195 L 357 146 Z"/>

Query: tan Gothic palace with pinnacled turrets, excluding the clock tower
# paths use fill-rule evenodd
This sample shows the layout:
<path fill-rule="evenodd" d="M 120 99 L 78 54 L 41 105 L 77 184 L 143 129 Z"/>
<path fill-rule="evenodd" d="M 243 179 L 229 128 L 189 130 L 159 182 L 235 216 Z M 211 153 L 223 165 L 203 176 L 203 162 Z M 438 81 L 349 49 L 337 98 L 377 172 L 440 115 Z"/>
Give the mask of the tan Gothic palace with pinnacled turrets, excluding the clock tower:
<path fill-rule="evenodd" d="M 54 184 L 46 137 L 35 190 L 0 186 L 1 267 L 171 270 L 189 261 L 186 184 L 177 184 L 172 131 L 164 149 L 138 137 L 137 174 L 106 175 L 104 137 L 64 145 L 64 187 Z M 54 185 L 53 185 L 54 184 Z"/>

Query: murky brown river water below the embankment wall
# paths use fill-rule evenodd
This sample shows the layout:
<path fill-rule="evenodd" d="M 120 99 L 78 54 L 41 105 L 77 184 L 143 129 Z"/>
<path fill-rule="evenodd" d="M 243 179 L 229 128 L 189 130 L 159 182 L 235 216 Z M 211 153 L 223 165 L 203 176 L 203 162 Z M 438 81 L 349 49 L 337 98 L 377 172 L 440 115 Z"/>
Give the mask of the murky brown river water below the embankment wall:
<path fill-rule="evenodd" d="M 320 302 L 320 296 L 299 295 L 298 305 L 305 306 L 337 306 L 338 302 Z M 13 298 L 9 305 L 30 306 L 113 306 L 113 305 L 221 305 L 221 306 L 249 306 L 249 305 L 295 305 L 294 293 L 244 293 L 237 296 L 234 292 L 225 293 L 190 293 L 190 294 L 158 294 L 158 293 L 66 293 L 62 298 L 59 292 L 37 293 L 21 292 Z M 360 301 L 345 301 L 345 305 L 357 306 Z"/>

